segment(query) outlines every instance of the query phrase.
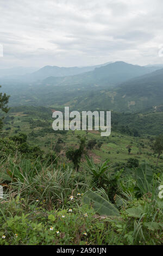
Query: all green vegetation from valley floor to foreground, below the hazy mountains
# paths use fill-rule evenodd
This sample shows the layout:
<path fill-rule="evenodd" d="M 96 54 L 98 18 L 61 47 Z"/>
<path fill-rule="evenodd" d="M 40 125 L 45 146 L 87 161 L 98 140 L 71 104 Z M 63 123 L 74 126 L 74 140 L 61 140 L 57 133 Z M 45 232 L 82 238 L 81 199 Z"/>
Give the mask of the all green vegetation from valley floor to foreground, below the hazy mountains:
<path fill-rule="evenodd" d="M 52 121 L 48 107 L 5 115 L 0 245 L 161 245 L 161 106 L 113 112 L 109 137 L 53 131 Z"/>

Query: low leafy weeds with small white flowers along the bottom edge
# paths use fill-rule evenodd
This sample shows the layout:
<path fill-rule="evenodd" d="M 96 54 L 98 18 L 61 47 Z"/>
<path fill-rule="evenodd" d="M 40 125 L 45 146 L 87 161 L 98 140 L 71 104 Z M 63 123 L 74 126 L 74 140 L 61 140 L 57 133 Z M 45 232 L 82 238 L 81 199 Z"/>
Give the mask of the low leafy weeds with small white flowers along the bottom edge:
<path fill-rule="evenodd" d="M 28 194 L 28 193 L 27 193 Z M 146 195 L 144 199 L 126 198 L 120 211 L 97 192 L 87 192 L 101 215 L 80 197 L 67 200 L 65 208 L 45 209 L 48 200 L 29 204 L 17 194 L 1 199 L 0 245 L 161 245 L 162 209 Z M 68 202 L 69 201 L 69 202 Z M 76 204 L 75 202 L 76 201 Z M 96 207 L 95 207 L 96 208 Z M 71 211 L 70 211 L 71 209 Z M 108 213 L 114 216 L 107 215 Z M 115 212 L 117 216 L 115 216 Z M 106 215 L 104 215 L 106 213 Z M 5 236 L 5 238 L 3 238 Z"/>

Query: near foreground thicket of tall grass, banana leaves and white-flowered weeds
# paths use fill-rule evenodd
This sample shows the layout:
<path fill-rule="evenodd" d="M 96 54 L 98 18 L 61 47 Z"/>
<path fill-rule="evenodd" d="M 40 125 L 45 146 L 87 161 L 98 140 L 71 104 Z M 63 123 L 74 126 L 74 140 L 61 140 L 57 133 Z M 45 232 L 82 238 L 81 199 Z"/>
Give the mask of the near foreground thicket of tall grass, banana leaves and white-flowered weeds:
<path fill-rule="evenodd" d="M 39 164 L 19 156 L 1 162 L 1 245 L 161 245 L 159 170 L 117 172 L 118 192 L 110 202 L 108 186 L 92 187 L 91 166 L 76 172 Z M 108 162 L 98 170 L 109 185 L 115 173 Z"/>

